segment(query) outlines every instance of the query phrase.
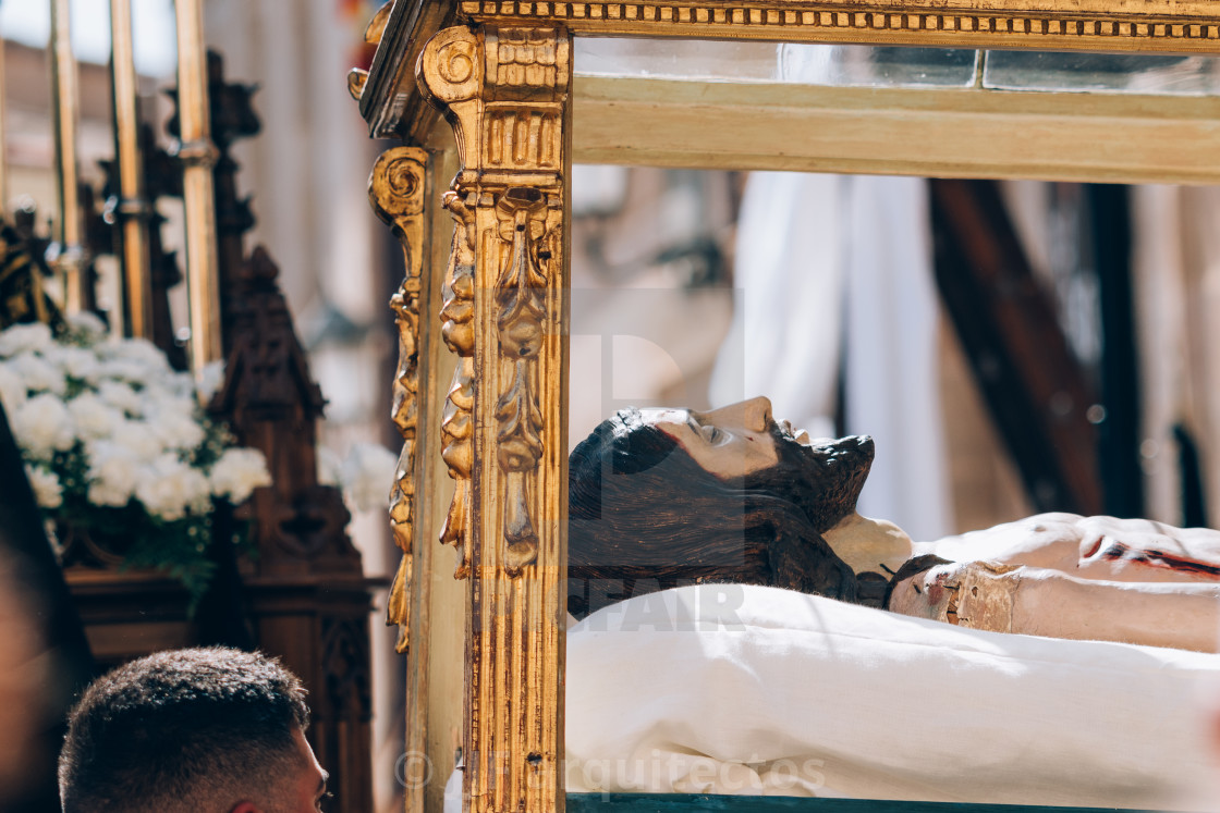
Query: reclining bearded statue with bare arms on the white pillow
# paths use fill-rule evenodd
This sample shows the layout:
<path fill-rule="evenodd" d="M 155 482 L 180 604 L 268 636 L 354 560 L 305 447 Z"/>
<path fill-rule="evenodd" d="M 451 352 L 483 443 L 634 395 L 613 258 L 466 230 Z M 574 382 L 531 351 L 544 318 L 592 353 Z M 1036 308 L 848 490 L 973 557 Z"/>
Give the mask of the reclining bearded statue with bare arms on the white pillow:
<path fill-rule="evenodd" d="M 1220 650 L 1220 531 L 1038 514 L 935 542 L 861 517 L 872 439 L 810 442 L 771 403 L 625 410 L 571 455 L 569 609 L 764 584 L 961 627 Z"/>

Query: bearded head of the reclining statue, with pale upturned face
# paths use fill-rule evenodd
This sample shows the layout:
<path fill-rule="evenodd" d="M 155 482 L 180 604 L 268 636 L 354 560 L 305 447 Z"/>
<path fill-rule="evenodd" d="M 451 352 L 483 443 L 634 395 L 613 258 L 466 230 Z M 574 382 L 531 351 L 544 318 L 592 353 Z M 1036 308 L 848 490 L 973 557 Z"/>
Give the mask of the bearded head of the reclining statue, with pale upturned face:
<path fill-rule="evenodd" d="M 623 410 L 572 452 L 569 608 L 689 580 L 854 600 L 821 534 L 855 511 L 872 440 L 806 445 L 754 399 L 711 412 Z"/>

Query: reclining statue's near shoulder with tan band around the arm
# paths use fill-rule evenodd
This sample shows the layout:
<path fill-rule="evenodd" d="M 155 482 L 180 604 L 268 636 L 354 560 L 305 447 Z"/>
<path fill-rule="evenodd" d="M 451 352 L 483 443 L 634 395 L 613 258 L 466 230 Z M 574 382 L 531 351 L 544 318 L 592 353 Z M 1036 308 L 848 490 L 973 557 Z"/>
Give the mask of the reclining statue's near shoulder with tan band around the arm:
<path fill-rule="evenodd" d="M 1021 569 L 997 562 L 939 564 L 897 584 L 889 608 L 904 616 L 1009 633 Z"/>

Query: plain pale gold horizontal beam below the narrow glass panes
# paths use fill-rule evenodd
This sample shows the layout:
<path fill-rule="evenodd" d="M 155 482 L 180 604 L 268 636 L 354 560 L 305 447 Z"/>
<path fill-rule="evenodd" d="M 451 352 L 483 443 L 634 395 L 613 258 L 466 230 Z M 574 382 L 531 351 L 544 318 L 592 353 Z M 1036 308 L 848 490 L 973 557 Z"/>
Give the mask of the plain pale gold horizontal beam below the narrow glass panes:
<path fill-rule="evenodd" d="M 580 163 L 1220 183 L 1215 96 L 577 76 L 573 98 Z"/>

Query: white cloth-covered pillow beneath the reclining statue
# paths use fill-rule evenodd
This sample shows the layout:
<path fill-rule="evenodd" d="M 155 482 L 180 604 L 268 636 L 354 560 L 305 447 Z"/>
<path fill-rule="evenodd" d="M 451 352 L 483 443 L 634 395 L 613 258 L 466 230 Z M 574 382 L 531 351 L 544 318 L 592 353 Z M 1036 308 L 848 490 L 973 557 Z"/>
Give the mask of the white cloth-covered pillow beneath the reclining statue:
<path fill-rule="evenodd" d="M 1187 791 L 1218 772 L 1199 692 L 1218 672 L 1220 656 L 678 588 L 569 631 L 567 790 L 1213 809 Z"/>

